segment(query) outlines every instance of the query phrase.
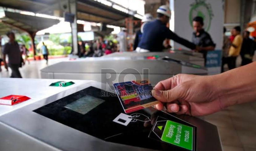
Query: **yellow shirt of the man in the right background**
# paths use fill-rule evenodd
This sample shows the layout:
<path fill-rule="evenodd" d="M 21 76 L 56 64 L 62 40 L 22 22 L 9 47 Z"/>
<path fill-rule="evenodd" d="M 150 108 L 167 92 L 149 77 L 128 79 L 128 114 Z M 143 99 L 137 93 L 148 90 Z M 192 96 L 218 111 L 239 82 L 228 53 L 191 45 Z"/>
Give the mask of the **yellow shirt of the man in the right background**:
<path fill-rule="evenodd" d="M 234 41 L 233 41 L 233 45 L 237 46 L 236 48 L 231 46 L 229 48 L 229 56 L 239 56 L 240 51 L 241 51 L 241 47 L 242 47 L 242 43 L 243 43 L 243 37 L 239 34 L 235 37 Z"/>

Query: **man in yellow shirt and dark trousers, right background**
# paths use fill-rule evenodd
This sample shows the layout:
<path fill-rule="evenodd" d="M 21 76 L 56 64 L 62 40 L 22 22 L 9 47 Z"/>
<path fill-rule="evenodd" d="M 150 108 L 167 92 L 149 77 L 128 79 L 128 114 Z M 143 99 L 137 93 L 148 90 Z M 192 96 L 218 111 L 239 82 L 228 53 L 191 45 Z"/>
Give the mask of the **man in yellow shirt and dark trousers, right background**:
<path fill-rule="evenodd" d="M 235 37 L 230 48 L 229 48 L 229 58 L 228 66 L 229 70 L 236 68 L 237 56 L 240 54 L 243 38 L 240 35 L 241 27 L 236 26 L 232 30 L 232 35 Z"/>

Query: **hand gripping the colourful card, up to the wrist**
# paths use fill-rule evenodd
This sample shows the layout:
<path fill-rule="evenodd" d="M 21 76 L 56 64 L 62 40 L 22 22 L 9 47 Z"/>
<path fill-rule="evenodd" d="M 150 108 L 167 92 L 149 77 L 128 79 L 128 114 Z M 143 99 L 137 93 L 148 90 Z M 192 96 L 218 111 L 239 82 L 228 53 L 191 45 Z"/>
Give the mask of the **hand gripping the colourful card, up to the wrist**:
<path fill-rule="evenodd" d="M 152 90 L 161 102 L 155 107 L 163 110 L 165 105 L 170 113 L 192 116 L 212 114 L 222 109 L 216 85 L 212 76 L 176 75 L 160 81 Z"/>

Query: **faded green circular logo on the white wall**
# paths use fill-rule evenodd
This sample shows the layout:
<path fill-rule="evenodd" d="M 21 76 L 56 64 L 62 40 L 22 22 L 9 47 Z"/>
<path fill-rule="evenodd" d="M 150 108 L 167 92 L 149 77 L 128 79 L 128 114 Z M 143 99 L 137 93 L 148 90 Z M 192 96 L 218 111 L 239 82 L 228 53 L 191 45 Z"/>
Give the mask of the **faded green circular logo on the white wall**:
<path fill-rule="evenodd" d="M 211 22 L 213 18 L 213 11 L 211 4 L 207 4 L 205 0 L 196 0 L 195 3 L 191 4 L 191 9 L 189 12 L 189 22 L 193 28 L 193 18 L 200 16 L 204 19 L 204 29 L 209 31 L 211 27 Z"/>

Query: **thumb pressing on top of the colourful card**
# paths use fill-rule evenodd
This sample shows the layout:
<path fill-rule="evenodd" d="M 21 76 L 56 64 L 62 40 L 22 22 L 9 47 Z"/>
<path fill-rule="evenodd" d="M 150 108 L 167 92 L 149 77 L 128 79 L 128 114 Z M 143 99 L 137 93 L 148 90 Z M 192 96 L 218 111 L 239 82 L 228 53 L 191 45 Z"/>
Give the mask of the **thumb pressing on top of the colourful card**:
<path fill-rule="evenodd" d="M 172 102 L 177 99 L 180 99 L 181 93 L 178 91 L 178 89 L 175 87 L 171 90 L 167 91 L 159 91 L 159 90 L 152 90 L 152 95 L 155 99 L 161 102 Z"/>

